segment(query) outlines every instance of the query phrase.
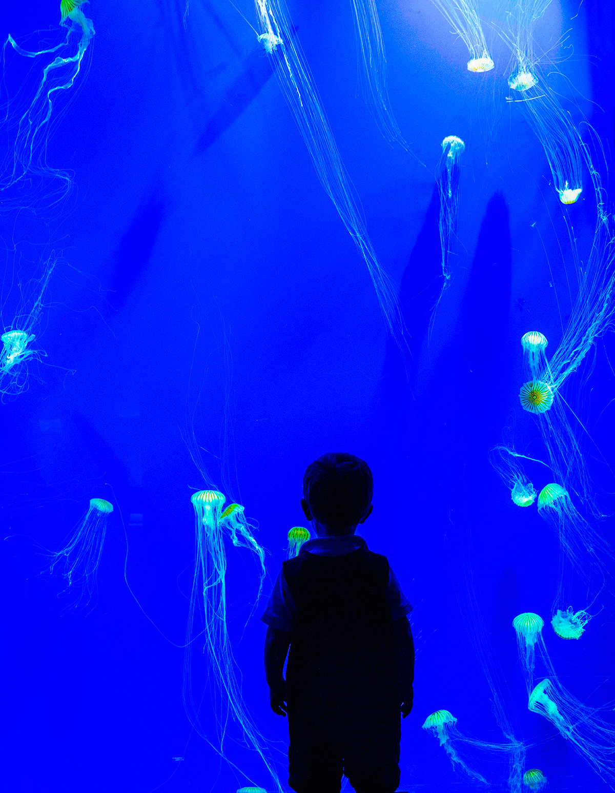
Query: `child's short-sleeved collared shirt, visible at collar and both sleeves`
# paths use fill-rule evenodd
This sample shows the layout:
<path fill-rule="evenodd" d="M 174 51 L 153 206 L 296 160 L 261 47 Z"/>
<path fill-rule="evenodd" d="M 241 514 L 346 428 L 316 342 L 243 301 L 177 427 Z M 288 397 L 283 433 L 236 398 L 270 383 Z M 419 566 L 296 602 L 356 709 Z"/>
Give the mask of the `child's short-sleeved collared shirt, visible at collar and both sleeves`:
<path fill-rule="evenodd" d="M 345 554 L 352 554 L 353 550 L 358 548 L 367 550 L 365 540 L 357 536 L 357 534 L 345 534 L 342 537 L 319 537 L 308 540 L 301 546 L 300 554 L 344 556 Z M 391 619 L 401 619 L 412 611 L 411 604 L 403 595 L 401 588 L 399 588 L 398 580 L 395 578 L 395 573 L 393 573 L 390 565 L 386 600 L 391 611 Z M 288 589 L 284 570 L 281 570 L 261 619 L 263 623 L 267 623 L 272 628 L 287 630 L 292 633 L 295 628 L 295 616 L 295 602 Z"/>

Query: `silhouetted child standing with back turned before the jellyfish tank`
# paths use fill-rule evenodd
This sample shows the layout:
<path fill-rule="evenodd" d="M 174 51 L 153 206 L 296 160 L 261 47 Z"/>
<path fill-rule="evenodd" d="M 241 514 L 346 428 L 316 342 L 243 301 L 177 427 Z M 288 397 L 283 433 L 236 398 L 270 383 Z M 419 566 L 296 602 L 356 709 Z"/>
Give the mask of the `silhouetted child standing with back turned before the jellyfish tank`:
<path fill-rule="evenodd" d="M 354 534 L 372 512 L 372 491 L 369 466 L 353 454 L 308 466 L 301 506 L 317 539 L 283 563 L 262 616 L 269 699 L 274 713 L 288 713 L 288 784 L 297 793 L 339 793 L 342 774 L 357 793 L 399 785 L 412 607 L 387 558 Z"/>

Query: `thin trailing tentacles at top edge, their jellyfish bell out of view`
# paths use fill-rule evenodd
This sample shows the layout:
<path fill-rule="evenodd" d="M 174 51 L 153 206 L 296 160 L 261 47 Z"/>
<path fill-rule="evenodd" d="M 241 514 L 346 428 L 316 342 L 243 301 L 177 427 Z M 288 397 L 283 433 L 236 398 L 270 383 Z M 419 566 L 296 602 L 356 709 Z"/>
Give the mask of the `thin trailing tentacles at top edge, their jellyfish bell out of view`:
<path fill-rule="evenodd" d="M 404 149 L 408 144 L 403 140 L 397 121 L 393 115 L 387 90 L 387 56 L 380 30 L 380 20 L 376 0 L 350 0 L 353 9 L 355 38 L 363 97 L 372 112 L 376 125 L 388 143 L 398 143 Z"/>

